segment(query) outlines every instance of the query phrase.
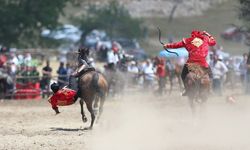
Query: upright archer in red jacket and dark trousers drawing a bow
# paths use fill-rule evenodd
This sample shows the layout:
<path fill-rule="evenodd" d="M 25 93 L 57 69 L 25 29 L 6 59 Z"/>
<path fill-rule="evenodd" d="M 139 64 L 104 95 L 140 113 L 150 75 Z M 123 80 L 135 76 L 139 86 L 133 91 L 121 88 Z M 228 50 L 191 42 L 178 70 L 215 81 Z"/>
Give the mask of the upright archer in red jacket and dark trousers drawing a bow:
<path fill-rule="evenodd" d="M 206 31 L 198 31 L 194 30 L 191 33 L 191 37 L 183 38 L 182 41 L 170 44 L 164 44 L 164 48 L 181 48 L 185 47 L 189 53 L 188 60 L 183 67 L 181 78 L 185 85 L 185 78 L 189 73 L 188 63 L 198 64 L 208 70 L 209 77 L 212 78 L 212 71 L 209 64 L 206 61 L 206 57 L 208 55 L 209 46 L 214 46 L 216 44 L 216 40 L 213 36 L 211 36 Z M 182 94 L 183 96 L 187 95 L 187 90 Z"/>

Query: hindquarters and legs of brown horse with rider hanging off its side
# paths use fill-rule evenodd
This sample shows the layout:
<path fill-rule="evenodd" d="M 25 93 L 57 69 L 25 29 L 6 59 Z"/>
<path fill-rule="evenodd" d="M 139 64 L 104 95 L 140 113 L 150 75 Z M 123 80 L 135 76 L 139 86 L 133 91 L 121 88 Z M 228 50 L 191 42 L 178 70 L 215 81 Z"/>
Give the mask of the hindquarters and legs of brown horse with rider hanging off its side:
<path fill-rule="evenodd" d="M 99 116 L 97 118 L 99 119 L 103 112 L 103 105 L 108 92 L 108 83 L 101 73 L 97 71 L 87 71 L 79 77 L 78 85 L 79 90 L 81 91 L 80 105 L 82 121 L 87 122 L 87 117 L 83 110 L 83 103 L 85 102 L 87 109 L 91 114 L 90 127 L 85 129 L 92 129 L 96 118 L 94 108 L 98 108 L 98 104 L 100 103 Z"/>

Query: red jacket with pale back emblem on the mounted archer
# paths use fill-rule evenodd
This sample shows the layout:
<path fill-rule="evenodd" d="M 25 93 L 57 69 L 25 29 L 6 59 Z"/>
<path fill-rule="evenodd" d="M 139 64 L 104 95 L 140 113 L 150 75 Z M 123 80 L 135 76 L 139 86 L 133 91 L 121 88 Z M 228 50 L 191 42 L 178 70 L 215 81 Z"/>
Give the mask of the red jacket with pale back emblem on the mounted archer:
<path fill-rule="evenodd" d="M 209 46 L 216 44 L 215 39 L 211 35 L 204 35 L 202 32 L 192 32 L 191 37 L 184 38 L 180 42 L 167 44 L 167 48 L 185 47 L 189 53 L 187 63 L 197 63 L 203 67 L 208 67 L 206 57 L 208 55 Z"/>

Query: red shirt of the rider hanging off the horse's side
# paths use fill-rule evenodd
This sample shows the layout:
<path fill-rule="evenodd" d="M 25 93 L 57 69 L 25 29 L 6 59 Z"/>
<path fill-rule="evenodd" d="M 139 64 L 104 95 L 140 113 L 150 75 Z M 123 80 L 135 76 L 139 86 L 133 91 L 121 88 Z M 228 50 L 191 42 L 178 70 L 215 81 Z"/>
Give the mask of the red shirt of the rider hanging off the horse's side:
<path fill-rule="evenodd" d="M 74 103 L 74 96 L 76 95 L 76 91 L 62 88 L 58 90 L 54 95 L 49 98 L 49 102 L 52 105 L 52 108 L 56 108 L 58 106 L 66 106 Z"/>

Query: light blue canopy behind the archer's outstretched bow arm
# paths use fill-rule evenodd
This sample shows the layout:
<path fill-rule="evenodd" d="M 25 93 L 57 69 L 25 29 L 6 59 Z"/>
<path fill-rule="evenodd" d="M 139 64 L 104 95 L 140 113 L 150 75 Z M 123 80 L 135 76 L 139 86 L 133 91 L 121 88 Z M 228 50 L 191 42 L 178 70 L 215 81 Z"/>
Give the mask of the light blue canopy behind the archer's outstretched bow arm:
<path fill-rule="evenodd" d="M 168 49 L 169 51 L 176 52 L 179 56 L 176 56 L 173 53 L 169 53 L 166 50 L 161 50 L 158 54 L 160 57 L 166 58 L 178 58 L 178 57 L 188 57 L 188 52 L 186 48 L 177 48 L 177 49 Z"/>

